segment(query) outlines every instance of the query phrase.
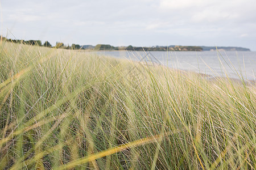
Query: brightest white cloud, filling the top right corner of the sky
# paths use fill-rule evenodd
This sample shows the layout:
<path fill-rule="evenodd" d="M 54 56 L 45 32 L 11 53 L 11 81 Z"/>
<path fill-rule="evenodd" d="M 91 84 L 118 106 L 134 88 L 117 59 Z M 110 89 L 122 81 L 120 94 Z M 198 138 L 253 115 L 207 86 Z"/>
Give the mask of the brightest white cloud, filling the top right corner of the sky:
<path fill-rule="evenodd" d="M 160 0 L 159 10 L 188 22 L 236 22 L 255 18 L 254 0 Z M 253 14 L 254 13 L 254 14 Z"/>

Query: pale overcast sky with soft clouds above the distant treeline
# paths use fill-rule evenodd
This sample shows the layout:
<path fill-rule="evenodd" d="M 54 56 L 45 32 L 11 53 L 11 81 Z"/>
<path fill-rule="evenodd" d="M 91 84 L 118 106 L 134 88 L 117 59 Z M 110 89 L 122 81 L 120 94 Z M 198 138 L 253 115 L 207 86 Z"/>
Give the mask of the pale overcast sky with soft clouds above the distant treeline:
<path fill-rule="evenodd" d="M 11 39 L 113 46 L 241 46 L 256 51 L 255 0 L 0 0 Z"/>

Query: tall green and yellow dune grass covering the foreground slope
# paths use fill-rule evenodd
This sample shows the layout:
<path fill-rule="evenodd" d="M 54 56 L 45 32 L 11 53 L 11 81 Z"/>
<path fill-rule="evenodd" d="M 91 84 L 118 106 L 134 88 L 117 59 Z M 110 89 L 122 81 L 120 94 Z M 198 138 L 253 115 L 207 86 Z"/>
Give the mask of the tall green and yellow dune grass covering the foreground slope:
<path fill-rule="evenodd" d="M 0 169 L 255 169 L 255 83 L 0 46 Z"/>

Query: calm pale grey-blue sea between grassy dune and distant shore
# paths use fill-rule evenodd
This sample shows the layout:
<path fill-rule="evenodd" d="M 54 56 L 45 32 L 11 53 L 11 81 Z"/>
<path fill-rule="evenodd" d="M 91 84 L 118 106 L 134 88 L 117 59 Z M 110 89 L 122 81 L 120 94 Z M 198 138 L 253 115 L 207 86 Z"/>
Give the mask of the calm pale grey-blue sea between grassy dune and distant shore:
<path fill-rule="evenodd" d="M 99 55 L 147 61 L 181 70 L 195 71 L 210 76 L 226 76 L 255 80 L 256 52 L 203 51 L 203 52 L 134 52 L 104 51 Z"/>

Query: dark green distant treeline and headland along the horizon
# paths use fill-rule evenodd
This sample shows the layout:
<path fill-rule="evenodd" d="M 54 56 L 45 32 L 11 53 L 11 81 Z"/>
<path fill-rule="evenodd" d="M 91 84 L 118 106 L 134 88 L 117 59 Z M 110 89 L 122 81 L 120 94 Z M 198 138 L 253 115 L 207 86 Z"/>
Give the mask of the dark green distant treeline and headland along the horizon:
<path fill-rule="evenodd" d="M 170 45 L 170 46 L 151 46 L 151 47 L 141 47 L 141 46 L 112 46 L 108 44 L 97 44 L 93 45 L 79 45 L 72 44 L 71 46 L 65 45 L 63 42 L 56 42 L 55 46 L 52 46 L 48 41 L 42 42 L 40 40 L 12 40 L 2 37 L 3 41 L 14 42 L 27 45 L 38 45 L 46 46 L 49 48 L 62 48 L 62 49 L 89 49 L 89 50 L 135 50 L 135 51 L 207 51 L 207 50 L 216 50 L 216 46 L 181 46 L 181 45 Z M 248 48 L 233 47 L 233 46 L 217 46 L 218 50 L 243 50 L 250 51 Z"/>

